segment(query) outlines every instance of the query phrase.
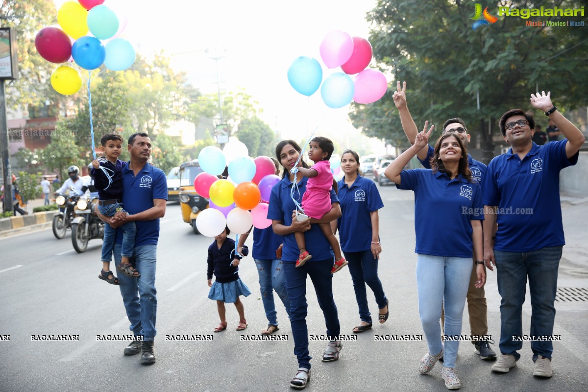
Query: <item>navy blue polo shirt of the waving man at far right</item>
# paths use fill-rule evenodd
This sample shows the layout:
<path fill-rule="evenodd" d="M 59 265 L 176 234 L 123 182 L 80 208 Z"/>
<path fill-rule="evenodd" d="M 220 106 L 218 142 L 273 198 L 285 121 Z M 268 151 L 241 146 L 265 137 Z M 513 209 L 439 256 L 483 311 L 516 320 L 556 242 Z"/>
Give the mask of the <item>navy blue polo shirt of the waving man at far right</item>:
<path fill-rule="evenodd" d="M 565 244 L 559 172 L 576 165 L 566 156 L 567 139 L 533 147 L 520 160 L 512 149 L 492 159 L 483 187 L 483 202 L 498 206 L 494 249 L 530 252 Z"/>

